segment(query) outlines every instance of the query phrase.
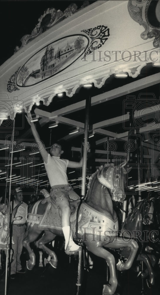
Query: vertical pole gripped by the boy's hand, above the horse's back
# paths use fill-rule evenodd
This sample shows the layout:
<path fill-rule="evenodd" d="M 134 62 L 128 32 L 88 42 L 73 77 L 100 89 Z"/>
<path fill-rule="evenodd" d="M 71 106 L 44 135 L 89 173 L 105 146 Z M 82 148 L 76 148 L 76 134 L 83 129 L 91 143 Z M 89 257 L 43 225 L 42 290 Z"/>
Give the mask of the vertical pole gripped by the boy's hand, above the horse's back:
<path fill-rule="evenodd" d="M 91 105 L 91 95 L 86 98 L 86 115 L 84 123 L 84 144 L 88 141 L 89 134 L 89 110 Z M 81 199 L 85 198 L 86 190 L 86 167 L 87 167 L 87 148 L 83 148 L 83 164 L 82 164 L 82 188 L 81 188 Z"/>

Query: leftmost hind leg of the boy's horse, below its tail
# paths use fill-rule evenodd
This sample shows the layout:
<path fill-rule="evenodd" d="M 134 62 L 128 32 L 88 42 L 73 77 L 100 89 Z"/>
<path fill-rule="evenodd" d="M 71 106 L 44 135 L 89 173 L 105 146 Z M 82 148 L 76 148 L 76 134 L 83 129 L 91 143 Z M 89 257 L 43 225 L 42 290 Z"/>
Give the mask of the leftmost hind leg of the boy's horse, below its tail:
<path fill-rule="evenodd" d="M 24 248 L 26 248 L 26 250 L 29 253 L 29 260 L 27 261 L 27 268 L 29 270 L 32 270 L 36 263 L 35 254 L 30 247 L 30 243 L 34 242 L 38 238 L 41 232 L 42 232 L 41 230 L 37 230 L 35 225 L 33 227 L 29 227 L 29 233 L 23 241 L 23 246 Z"/>

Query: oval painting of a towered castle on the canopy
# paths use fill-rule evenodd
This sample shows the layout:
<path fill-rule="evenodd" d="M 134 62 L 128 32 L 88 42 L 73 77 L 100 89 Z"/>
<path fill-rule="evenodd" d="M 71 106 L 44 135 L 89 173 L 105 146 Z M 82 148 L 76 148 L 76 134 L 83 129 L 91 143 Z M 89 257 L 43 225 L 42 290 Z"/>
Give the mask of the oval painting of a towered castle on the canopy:
<path fill-rule="evenodd" d="M 89 38 L 84 35 L 72 35 L 48 44 L 21 67 L 16 84 L 32 86 L 64 71 L 84 55 L 88 45 Z"/>

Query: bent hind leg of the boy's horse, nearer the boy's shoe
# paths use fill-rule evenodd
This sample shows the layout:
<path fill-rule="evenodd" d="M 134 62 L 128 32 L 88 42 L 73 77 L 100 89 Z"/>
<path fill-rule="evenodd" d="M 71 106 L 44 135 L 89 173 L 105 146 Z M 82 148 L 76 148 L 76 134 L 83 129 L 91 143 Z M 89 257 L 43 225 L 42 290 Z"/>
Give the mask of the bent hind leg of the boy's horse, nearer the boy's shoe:
<path fill-rule="evenodd" d="M 58 262 L 56 253 L 54 251 L 50 250 L 49 248 L 47 248 L 45 246 L 45 244 L 54 240 L 55 237 L 56 237 L 56 235 L 54 235 L 52 232 L 45 230 L 44 235 L 36 242 L 36 246 L 38 248 L 44 250 L 49 255 L 49 258 L 47 260 L 51 264 L 51 266 L 54 268 L 57 267 L 57 262 Z"/>

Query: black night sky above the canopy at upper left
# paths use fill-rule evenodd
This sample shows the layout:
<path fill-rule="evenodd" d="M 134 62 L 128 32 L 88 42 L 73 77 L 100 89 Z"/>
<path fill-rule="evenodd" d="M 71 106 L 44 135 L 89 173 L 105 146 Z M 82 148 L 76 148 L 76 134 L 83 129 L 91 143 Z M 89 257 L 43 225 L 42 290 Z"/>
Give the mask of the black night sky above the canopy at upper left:
<path fill-rule="evenodd" d="M 1 57 L 0 65 L 14 53 L 16 45 L 21 46 L 20 39 L 26 34 L 31 34 L 38 19 L 47 8 L 60 9 L 62 12 L 71 3 L 75 3 L 78 9 L 84 1 L 1 1 Z M 95 1 L 89 1 L 93 3 Z"/>

